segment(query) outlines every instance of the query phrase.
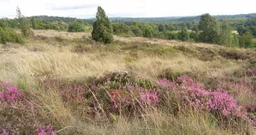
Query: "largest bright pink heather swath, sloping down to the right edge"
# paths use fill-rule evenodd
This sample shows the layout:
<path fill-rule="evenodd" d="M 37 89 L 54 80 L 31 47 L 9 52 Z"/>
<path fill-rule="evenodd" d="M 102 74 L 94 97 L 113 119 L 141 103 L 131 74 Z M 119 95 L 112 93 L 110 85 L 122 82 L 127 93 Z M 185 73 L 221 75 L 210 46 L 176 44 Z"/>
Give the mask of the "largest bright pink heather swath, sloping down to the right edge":
<path fill-rule="evenodd" d="M 186 106 L 208 111 L 219 111 L 222 115 L 235 115 L 249 123 L 254 123 L 247 117 L 246 110 L 238 105 L 236 100 L 227 92 L 223 92 L 221 89 L 216 91 L 205 90 L 204 84 L 193 80 L 189 76 L 180 76 L 178 81 L 181 83 L 180 87 L 176 87 L 178 84 L 175 85 L 167 80 L 158 80 L 158 84 L 165 90 L 176 91 L 180 94 Z"/>

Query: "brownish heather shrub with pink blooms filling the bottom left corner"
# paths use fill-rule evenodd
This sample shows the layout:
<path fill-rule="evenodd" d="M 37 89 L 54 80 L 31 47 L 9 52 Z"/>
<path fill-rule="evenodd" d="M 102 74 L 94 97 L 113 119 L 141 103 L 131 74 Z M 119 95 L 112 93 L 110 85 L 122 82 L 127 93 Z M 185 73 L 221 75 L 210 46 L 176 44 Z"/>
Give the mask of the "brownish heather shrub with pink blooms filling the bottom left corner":
<path fill-rule="evenodd" d="M 54 133 L 51 128 L 36 130 L 46 122 L 34 101 L 30 101 L 22 91 L 7 82 L 0 82 L 0 133 L 35 134 Z M 50 127 L 50 126 L 48 126 Z"/>

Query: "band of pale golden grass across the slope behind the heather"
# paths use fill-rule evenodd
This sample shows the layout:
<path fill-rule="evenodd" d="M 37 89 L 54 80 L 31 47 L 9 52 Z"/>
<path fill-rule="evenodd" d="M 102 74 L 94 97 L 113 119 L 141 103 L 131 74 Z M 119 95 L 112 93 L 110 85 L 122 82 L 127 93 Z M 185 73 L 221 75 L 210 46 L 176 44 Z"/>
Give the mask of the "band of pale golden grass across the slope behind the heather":
<path fill-rule="evenodd" d="M 34 75 L 48 73 L 56 79 L 77 80 L 89 76 L 99 76 L 102 73 L 117 70 L 128 70 L 138 76 L 156 80 L 163 69 L 174 72 L 201 72 L 208 77 L 225 76 L 240 69 L 240 62 L 230 60 L 213 60 L 204 62 L 185 55 L 173 55 L 171 58 L 158 55 L 144 55 L 134 62 L 126 62 L 126 53 L 74 53 L 71 46 L 53 47 L 49 44 L 34 44 L 42 52 L 31 52 L 28 47 L 12 48 L 12 53 L 0 55 L 0 80 L 12 83 L 22 77 L 27 82 L 34 83 Z"/>

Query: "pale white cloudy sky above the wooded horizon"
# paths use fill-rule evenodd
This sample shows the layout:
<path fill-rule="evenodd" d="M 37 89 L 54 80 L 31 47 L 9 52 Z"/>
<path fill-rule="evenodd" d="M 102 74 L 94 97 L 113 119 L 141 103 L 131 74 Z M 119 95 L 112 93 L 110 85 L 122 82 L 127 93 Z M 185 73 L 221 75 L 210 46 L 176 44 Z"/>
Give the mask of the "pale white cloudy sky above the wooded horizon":
<path fill-rule="evenodd" d="M 256 0 L 0 0 L 0 18 L 24 16 L 69 16 L 92 18 L 97 7 L 108 17 L 163 17 L 235 15 L 256 12 Z"/>

